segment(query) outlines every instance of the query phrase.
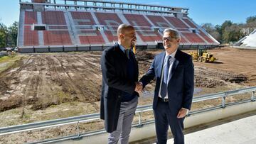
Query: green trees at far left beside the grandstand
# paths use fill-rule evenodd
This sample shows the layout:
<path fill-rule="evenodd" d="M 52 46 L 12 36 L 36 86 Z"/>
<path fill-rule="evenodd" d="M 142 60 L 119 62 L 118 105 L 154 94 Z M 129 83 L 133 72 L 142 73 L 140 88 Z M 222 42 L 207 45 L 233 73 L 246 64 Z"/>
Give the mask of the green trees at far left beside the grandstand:
<path fill-rule="evenodd" d="M 18 22 L 15 21 L 11 26 L 7 27 L 4 23 L 0 23 L 0 48 L 16 47 L 18 36 Z"/>

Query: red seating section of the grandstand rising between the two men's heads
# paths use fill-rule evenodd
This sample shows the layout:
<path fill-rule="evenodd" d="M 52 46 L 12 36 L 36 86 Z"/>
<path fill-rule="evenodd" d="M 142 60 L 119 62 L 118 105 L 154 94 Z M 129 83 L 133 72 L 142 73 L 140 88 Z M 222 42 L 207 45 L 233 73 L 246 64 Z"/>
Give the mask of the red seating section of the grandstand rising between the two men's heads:
<path fill-rule="evenodd" d="M 161 35 L 158 32 L 151 30 L 150 23 L 139 14 L 124 14 L 124 17 L 129 23 L 134 26 L 138 35 L 144 42 L 154 42 L 161 40 Z"/>

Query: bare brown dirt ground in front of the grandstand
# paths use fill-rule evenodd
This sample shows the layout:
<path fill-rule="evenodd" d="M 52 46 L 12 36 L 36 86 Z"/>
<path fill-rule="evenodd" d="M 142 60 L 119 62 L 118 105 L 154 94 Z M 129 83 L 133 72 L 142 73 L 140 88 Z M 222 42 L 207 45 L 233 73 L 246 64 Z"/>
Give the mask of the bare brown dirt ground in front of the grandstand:
<path fill-rule="evenodd" d="M 184 50 L 189 52 L 192 50 Z M 163 50 L 137 53 L 139 77 L 150 67 L 154 55 Z M 195 96 L 223 92 L 256 85 L 256 50 L 218 48 L 208 50 L 217 62 L 196 62 Z M 0 73 L 0 127 L 35 121 L 98 113 L 102 76 L 101 52 L 58 52 L 20 54 L 21 60 Z M 0 65 L 1 67 L 1 65 Z M 139 105 L 151 104 L 154 82 L 139 99 Z M 246 99 L 250 95 L 230 96 L 228 101 Z M 193 104 L 192 110 L 220 104 L 220 99 Z M 148 118 L 153 118 L 148 112 Z M 137 116 L 134 121 L 137 121 Z M 102 121 L 81 125 L 81 130 L 104 128 Z M 41 135 L 40 133 L 51 133 Z M 47 129 L 35 133 L 0 136 L 0 143 L 21 143 L 75 133 L 72 126 Z M 22 138 L 21 138 L 22 137 Z M 21 140 L 21 139 L 22 140 Z"/>

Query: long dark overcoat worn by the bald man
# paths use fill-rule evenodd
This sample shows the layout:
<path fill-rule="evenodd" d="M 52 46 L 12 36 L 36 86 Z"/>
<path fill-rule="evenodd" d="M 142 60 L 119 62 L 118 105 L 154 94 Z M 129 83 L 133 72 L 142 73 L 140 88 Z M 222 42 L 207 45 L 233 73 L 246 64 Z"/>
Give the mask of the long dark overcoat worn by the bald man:
<path fill-rule="evenodd" d="M 105 129 L 108 133 L 117 129 L 122 93 L 128 92 L 139 96 L 135 89 L 138 82 L 138 64 L 133 52 L 129 58 L 134 60 L 134 78 L 127 74 L 128 58 L 116 44 L 102 52 L 102 94 L 100 100 L 100 118 L 105 120 Z"/>

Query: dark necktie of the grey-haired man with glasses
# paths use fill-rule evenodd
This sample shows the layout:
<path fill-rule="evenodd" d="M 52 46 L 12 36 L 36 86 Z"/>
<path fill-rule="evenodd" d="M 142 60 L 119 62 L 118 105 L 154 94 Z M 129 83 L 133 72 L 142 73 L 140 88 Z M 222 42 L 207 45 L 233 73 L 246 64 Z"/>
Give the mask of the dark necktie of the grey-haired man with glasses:
<path fill-rule="evenodd" d="M 170 67 L 170 59 L 171 55 L 168 55 L 166 57 L 166 60 L 164 62 L 164 74 L 163 74 L 163 80 L 161 84 L 161 97 L 164 99 L 166 96 L 166 91 L 167 91 L 167 81 L 168 81 L 168 74 L 169 74 L 169 67 Z"/>

